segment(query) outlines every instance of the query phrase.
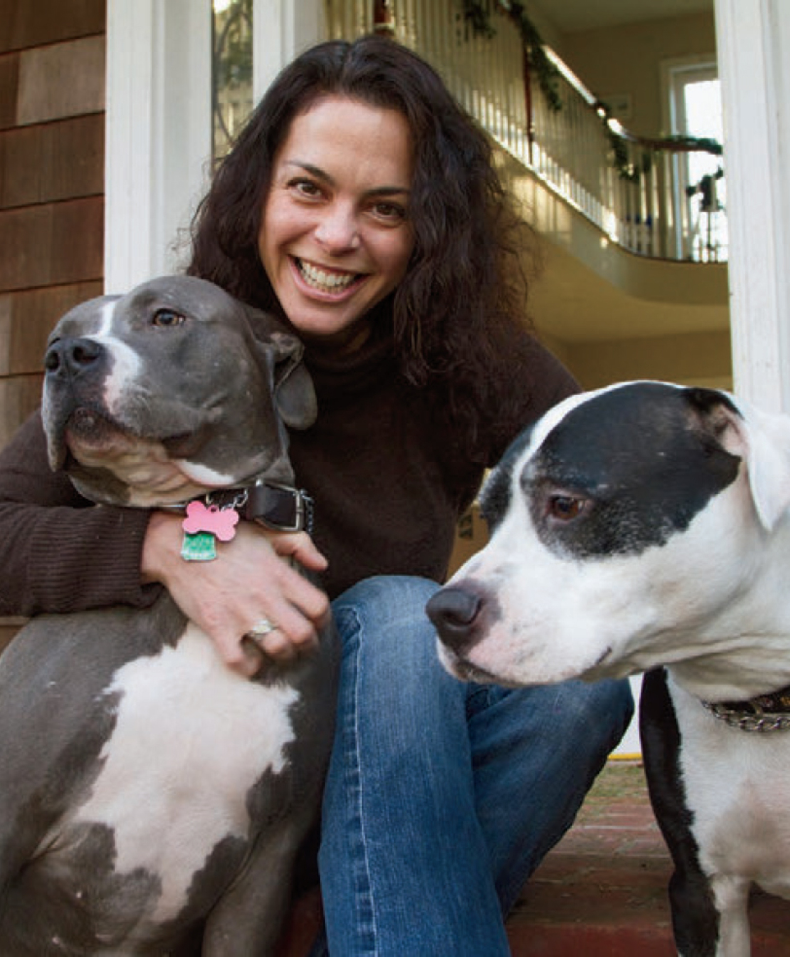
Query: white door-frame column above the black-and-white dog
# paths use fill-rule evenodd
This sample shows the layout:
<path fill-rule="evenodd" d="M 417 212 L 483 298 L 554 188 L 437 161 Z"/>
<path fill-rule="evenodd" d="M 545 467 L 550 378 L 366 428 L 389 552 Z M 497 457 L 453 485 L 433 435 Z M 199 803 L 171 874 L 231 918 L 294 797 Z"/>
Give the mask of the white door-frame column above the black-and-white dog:
<path fill-rule="evenodd" d="M 790 4 L 715 0 L 734 387 L 790 412 Z"/>

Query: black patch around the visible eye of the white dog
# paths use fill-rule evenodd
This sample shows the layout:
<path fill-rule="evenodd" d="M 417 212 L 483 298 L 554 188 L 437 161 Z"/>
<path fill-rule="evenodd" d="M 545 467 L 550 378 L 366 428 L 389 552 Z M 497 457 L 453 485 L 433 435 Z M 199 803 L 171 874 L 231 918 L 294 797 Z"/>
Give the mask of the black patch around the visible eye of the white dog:
<path fill-rule="evenodd" d="M 733 410 L 722 393 L 635 383 L 568 412 L 519 479 L 543 544 L 640 554 L 688 528 L 738 473 L 717 437 L 722 404 Z"/>

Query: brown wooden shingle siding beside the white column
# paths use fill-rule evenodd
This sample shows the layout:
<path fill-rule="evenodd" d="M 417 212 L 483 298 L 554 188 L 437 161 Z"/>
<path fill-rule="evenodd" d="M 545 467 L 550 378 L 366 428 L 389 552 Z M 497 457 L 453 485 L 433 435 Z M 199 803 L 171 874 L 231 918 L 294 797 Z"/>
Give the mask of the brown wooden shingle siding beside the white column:
<path fill-rule="evenodd" d="M 105 0 L 0 0 L 0 447 L 53 325 L 102 294 L 105 23 Z"/>

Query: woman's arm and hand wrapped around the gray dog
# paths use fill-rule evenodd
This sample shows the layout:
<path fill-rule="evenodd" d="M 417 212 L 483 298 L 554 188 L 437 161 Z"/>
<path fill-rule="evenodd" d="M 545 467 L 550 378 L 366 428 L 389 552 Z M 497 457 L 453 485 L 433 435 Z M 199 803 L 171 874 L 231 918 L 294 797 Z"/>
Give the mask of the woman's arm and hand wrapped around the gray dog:
<path fill-rule="evenodd" d="M 239 523 L 213 562 L 181 558 L 181 517 L 93 505 L 53 473 L 36 414 L 0 453 L 0 613 L 76 612 L 149 605 L 162 585 L 245 674 L 260 668 L 243 636 L 276 622 L 267 655 L 287 658 L 317 638 L 328 602 L 283 558 L 321 571 L 326 561 L 305 533 L 275 534 Z"/>

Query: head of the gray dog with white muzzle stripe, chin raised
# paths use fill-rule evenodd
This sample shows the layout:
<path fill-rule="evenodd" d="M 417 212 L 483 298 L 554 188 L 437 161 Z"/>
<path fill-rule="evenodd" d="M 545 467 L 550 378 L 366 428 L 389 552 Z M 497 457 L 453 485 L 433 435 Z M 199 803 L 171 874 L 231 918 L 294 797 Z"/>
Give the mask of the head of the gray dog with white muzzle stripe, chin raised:
<path fill-rule="evenodd" d="M 144 507 L 258 477 L 290 483 L 283 424 L 316 416 L 302 352 L 276 318 L 203 279 L 84 302 L 47 347 L 50 465 L 93 501 Z"/>

